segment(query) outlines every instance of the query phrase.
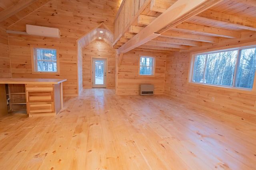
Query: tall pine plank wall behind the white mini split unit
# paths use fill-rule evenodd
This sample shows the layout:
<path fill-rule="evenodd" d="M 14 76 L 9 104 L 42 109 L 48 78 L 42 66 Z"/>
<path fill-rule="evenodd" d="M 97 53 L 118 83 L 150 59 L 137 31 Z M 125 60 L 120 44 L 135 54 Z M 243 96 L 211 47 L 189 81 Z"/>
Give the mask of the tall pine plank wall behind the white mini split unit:
<path fill-rule="evenodd" d="M 8 27 L 26 31 L 26 24 L 60 29 L 60 39 L 32 35 L 9 34 L 10 61 L 13 78 L 66 78 L 64 96 L 78 96 L 81 65 L 76 40 L 104 22 L 113 31 L 119 0 L 52 0 L 42 8 Z M 29 45 L 48 45 L 60 49 L 60 74 L 32 74 Z M 8 76 L 8 74 L 6 74 Z M 79 88 L 79 89 L 78 89 Z"/>

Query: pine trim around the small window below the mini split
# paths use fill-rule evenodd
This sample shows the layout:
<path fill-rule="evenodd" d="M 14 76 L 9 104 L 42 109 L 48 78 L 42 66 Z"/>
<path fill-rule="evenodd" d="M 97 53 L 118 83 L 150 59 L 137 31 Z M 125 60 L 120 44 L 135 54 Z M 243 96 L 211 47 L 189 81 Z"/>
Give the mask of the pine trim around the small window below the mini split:
<path fill-rule="evenodd" d="M 54 49 L 56 50 L 56 64 L 57 64 L 57 72 L 46 72 L 46 71 L 37 71 L 36 69 L 36 59 L 35 59 L 35 48 L 38 49 Z M 59 48 L 52 46 L 40 46 L 40 45 L 30 45 L 30 53 L 31 53 L 31 66 L 32 66 L 32 74 L 60 74 L 60 62 L 59 62 Z"/>

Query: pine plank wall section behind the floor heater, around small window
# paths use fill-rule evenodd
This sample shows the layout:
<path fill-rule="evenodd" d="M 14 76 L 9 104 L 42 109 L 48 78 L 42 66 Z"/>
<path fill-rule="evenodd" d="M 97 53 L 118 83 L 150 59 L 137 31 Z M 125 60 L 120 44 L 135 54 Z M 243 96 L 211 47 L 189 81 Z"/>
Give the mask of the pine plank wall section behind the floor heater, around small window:
<path fill-rule="evenodd" d="M 156 73 L 154 76 L 139 76 L 139 55 L 156 56 Z M 138 95 L 140 84 L 154 84 L 154 94 L 163 94 L 166 54 L 132 50 L 125 53 L 118 68 L 117 95 Z"/>

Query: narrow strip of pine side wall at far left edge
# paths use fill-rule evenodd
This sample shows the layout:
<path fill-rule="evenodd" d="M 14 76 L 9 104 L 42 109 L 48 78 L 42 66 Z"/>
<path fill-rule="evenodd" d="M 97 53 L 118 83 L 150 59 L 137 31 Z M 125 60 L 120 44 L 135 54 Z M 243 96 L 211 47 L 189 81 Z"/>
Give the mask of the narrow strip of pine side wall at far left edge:
<path fill-rule="evenodd" d="M 8 34 L 0 28 L 0 78 L 11 78 Z"/>

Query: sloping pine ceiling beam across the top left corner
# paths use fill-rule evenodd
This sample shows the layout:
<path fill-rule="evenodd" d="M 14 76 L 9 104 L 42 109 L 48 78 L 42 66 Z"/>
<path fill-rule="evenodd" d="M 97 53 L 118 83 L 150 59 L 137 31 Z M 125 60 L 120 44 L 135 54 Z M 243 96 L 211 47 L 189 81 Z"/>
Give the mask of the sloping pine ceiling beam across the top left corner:
<path fill-rule="evenodd" d="M 0 12 L 0 22 L 6 20 L 7 18 L 13 16 L 17 12 L 20 12 L 24 8 L 30 6 L 34 2 L 38 0 L 20 0 L 17 3 L 13 4 L 12 6 L 2 10 Z"/>

